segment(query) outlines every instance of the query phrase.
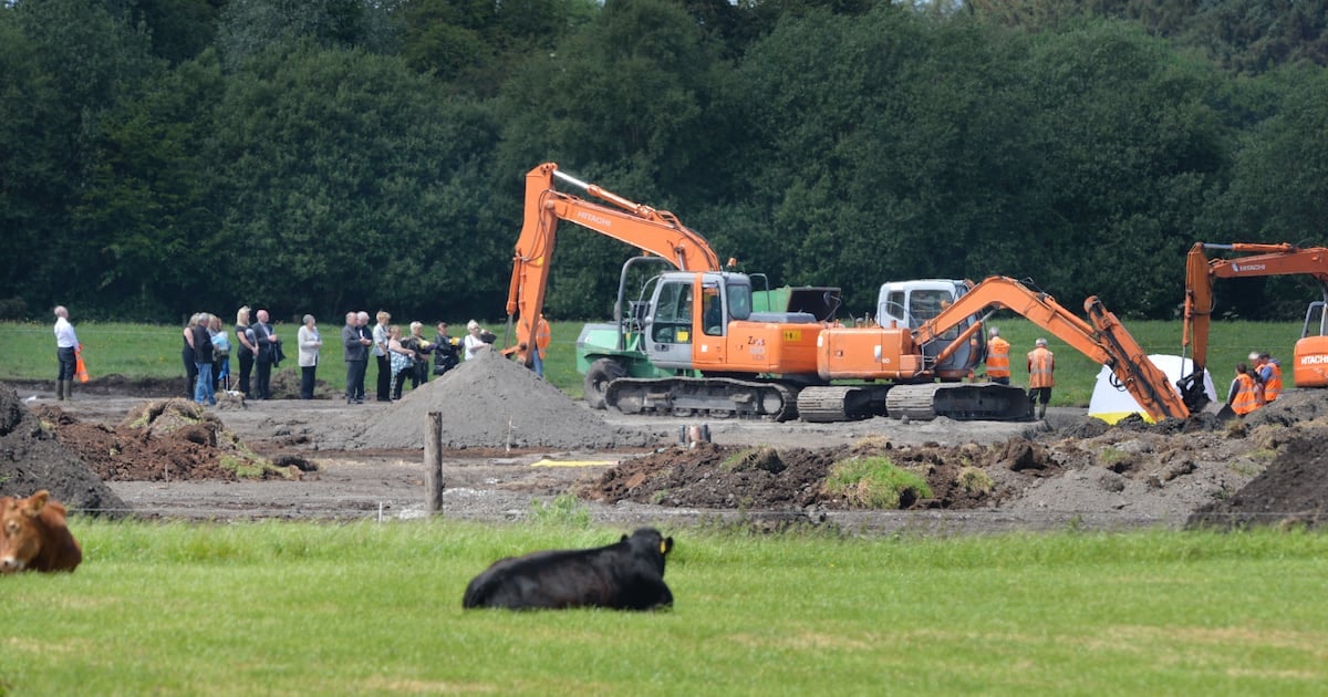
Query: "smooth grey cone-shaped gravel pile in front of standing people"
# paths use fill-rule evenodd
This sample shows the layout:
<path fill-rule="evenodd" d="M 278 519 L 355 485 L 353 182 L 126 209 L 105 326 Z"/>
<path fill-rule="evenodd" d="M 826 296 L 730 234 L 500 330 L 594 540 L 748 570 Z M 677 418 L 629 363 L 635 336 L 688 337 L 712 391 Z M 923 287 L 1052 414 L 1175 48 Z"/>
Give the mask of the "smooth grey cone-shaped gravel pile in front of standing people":
<path fill-rule="evenodd" d="M 604 449 L 648 445 L 576 405 L 531 370 L 489 352 L 374 410 L 351 447 L 422 449 L 426 414 L 442 413 L 442 446 Z"/>

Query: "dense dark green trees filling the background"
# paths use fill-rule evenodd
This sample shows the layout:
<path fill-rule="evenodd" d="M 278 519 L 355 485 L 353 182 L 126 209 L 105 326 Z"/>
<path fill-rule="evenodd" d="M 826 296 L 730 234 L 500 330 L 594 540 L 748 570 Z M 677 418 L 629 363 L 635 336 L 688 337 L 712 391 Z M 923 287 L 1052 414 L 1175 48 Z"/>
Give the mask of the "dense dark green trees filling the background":
<path fill-rule="evenodd" d="M 0 317 L 497 317 L 555 161 L 846 313 L 999 273 L 1170 319 L 1194 242 L 1324 242 L 1325 5 L 4 3 Z M 631 250 L 563 227 L 547 313 L 606 317 Z"/>

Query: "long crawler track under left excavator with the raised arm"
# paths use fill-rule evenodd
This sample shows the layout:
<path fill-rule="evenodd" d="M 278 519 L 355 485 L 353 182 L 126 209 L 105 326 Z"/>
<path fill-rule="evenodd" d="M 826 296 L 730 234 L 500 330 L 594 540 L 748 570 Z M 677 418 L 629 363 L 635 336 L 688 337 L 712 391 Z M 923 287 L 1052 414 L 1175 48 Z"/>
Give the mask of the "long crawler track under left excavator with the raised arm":
<path fill-rule="evenodd" d="M 797 390 L 781 382 L 726 377 L 624 377 L 608 384 L 604 404 L 624 414 L 714 418 L 798 418 Z"/>

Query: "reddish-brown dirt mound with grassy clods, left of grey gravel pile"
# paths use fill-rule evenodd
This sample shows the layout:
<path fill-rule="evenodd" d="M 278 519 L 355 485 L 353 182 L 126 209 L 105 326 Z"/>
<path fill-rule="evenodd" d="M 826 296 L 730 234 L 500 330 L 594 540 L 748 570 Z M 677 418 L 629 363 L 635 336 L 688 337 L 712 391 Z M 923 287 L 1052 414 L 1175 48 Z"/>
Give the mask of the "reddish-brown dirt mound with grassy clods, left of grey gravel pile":
<path fill-rule="evenodd" d="M 301 467 L 274 466 L 240 442 L 215 414 L 186 400 L 146 402 L 114 427 L 82 424 L 54 405 L 41 406 L 36 413 L 104 481 L 300 477 Z"/>

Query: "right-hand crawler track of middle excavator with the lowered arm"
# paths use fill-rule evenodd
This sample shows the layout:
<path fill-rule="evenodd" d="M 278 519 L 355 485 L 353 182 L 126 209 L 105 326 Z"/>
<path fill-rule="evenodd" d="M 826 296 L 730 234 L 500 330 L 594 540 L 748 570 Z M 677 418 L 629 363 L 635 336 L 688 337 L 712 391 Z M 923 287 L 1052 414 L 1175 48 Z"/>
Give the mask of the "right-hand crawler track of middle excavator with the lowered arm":
<path fill-rule="evenodd" d="M 1028 394 L 1021 388 L 996 382 L 930 382 L 895 385 L 886 393 L 886 413 L 891 418 L 931 421 L 950 417 L 957 421 L 1020 421 L 1032 414 Z"/>

